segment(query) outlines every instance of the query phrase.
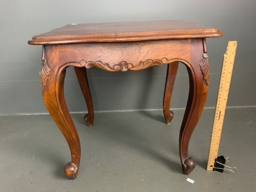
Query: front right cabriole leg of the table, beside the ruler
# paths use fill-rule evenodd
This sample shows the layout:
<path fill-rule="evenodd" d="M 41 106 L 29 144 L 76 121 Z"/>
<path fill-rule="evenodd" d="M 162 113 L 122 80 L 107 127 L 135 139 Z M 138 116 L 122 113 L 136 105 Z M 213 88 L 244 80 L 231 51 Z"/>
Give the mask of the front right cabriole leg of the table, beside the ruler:
<path fill-rule="evenodd" d="M 183 173 L 186 175 L 191 173 L 196 166 L 195 160 L 188 156 L 188 145 L 203 111 L 208 93 L 208 56 L 202 45 L 201 39 L 191 40 L 191 63 L 187 64 L 189 96 L 179 137 L 180 160 Z"/>

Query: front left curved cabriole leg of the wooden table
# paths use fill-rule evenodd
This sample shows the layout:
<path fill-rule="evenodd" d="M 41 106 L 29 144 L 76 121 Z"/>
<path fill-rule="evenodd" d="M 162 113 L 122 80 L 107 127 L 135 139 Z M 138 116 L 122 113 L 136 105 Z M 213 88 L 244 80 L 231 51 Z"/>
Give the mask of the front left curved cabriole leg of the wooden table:
<path fill-rule="evenodd" d="M 65 165 L 64 173 L 71 180 L 74 180 L 79 171 L 80 140 L 64 99 L 65 69 L 59 68 L 57 64 L 53 63 L 48 65 L 46 60 L 43 60 L 41 70 L 43 100 L 49 114 L 69 145 L 71 162 Z"/>

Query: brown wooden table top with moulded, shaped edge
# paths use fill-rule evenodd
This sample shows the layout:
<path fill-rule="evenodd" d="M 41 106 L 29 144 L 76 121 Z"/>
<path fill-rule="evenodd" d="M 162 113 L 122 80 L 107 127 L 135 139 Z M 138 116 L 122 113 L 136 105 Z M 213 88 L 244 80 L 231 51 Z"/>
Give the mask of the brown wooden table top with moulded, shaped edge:
<path fill-rule="evenodd" d="M 183 20 L 68 24 L 35 35 L 30 45 L 220 37 L 217 28 Z"/>

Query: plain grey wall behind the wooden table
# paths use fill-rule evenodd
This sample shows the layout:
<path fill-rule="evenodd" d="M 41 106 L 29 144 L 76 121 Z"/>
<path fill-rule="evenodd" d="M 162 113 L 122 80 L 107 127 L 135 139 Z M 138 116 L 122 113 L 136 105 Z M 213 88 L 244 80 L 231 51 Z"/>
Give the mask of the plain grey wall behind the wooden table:
<path fill-rule="evenodd" d="M 222 57 L 238 41 L 228 106 L 256 106 L 255 0 L 0 0 L 0 114 L 46 113 L 40 91 L 41 46 L 27 40 L 68 23 L 183 19 L 217 27 L 224 37 L 207 39 L 210 85 L 206 107 L 216 105 Z M 162 108 L 166 66 L 140 72 L 88 70 L 96 111 Z M 180 64 L 173 108 L 184 108 L 188 76 Z M 73 68 L 67 69 L 65 98 L 70 111 L 86 111 Z"/>

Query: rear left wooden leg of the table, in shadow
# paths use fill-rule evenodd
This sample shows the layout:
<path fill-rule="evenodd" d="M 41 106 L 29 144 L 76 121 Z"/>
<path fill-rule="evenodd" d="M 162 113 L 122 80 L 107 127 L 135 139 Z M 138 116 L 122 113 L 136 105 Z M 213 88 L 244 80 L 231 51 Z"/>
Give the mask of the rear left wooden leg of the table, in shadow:
<path fill-rule="evenodd" d="M 88 124 L 89 127 L 93 126 L 93 102 L 92 102 L 92 95 L 90 95 L 90 87 L 88 83 L 87 73 L 85 68 L 78 68 L 75 66 L 75 72 L 77 80 L 79 81 L 79 85 L 82 90 L 82 94 L 84 95 L 84 99 L 86 102 L 88 114 L 84 116 L 85 123 Z"/>

